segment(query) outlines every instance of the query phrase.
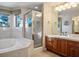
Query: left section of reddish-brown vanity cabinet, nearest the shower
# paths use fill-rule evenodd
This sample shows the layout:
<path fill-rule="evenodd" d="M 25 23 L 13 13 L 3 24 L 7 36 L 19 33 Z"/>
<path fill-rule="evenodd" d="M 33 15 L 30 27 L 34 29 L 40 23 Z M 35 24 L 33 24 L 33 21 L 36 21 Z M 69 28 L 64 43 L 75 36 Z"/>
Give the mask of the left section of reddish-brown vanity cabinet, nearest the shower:
<path fill-rule="evenodd" d="M 67 41 L 60 40 L 58 38 L 48 38 L 46 37 L 46 48 L 47 50 L 53 51 L 60 55 L 67 56 Z"/>

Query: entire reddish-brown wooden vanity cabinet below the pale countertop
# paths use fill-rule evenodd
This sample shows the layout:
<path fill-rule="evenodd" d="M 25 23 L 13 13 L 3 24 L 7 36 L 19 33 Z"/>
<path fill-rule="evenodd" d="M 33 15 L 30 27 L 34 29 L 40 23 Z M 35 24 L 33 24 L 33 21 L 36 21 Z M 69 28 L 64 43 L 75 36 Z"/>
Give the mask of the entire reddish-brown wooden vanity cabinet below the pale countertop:
<path fill-rule="evenodd" d="M 46 48 L 62 56 L 79 56 L 79 42 L 60 39 L 48 38 L 46 36 Z"/>

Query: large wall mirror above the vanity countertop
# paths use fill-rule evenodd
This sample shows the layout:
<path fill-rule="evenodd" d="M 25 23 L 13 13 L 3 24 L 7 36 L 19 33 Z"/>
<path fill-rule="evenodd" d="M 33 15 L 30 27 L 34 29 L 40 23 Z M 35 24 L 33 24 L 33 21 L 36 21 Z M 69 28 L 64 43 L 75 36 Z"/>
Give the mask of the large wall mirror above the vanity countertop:
<path fill-rule="evenodd" d="M 64 4 L 62 6 L 64 6 Z M 70 8 L 66 8 L 64 10 L 62 9 L 61 11 L 58 11 L 58 30 L 59 33 L 64 32 L 69 34 L 79 34 L 79 4 L 78 3 L 76 3 L 75 7 L 70 6 Z"/>

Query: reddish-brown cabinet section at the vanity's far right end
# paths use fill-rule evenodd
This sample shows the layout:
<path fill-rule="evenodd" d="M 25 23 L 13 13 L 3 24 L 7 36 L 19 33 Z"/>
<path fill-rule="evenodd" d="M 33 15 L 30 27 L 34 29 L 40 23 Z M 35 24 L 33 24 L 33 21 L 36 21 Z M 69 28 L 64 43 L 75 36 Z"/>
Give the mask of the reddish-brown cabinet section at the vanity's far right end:
<path fill-rule="evenodd" d="M 79 57 L 79 42 L 68 41 L 68 56 Z"/>

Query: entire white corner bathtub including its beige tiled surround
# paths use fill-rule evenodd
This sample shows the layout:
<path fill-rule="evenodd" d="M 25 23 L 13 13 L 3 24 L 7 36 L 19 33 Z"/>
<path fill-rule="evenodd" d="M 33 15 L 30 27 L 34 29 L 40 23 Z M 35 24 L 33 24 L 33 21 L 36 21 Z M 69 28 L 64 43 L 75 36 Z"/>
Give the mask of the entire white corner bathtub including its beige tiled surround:
<path fill-rule="evenodd" d="M 26 38 L 0 39 L 0 57 L 30 57 L 33 41 Z"/>

